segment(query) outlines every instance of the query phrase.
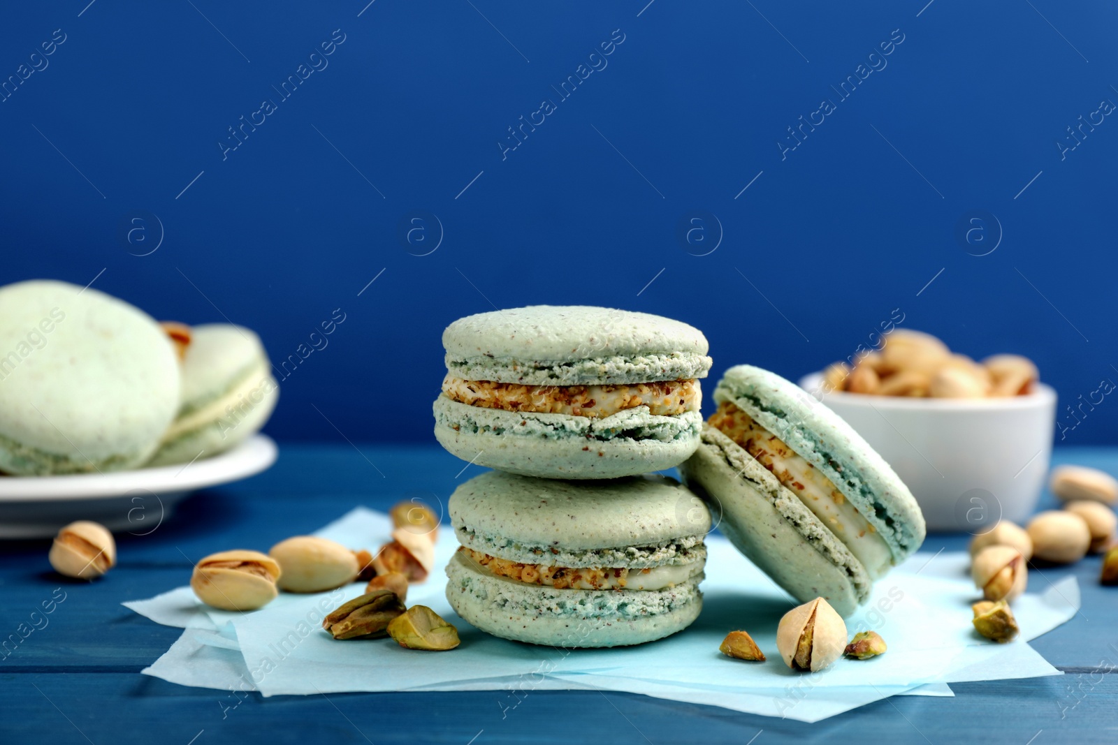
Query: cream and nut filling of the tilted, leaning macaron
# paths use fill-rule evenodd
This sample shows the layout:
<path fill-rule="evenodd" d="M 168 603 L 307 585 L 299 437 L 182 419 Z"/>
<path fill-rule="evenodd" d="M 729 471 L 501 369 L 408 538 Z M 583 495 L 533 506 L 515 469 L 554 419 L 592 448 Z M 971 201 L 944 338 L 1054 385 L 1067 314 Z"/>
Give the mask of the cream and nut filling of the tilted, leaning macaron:
<path fill-rule="evenodd" d="M 815 466 L 732 403 L 720 404 L 709 421 L 799 497 L 862 562 L 870 579 L 877 580 L 889 571 L 893 563 L 889 544 Z"/>

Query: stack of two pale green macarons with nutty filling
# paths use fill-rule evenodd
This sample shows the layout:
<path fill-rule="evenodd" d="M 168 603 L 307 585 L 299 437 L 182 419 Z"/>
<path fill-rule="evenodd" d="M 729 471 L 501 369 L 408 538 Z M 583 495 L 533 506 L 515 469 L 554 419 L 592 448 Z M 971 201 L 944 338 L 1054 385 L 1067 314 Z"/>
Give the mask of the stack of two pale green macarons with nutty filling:
<path fill-rule="evenodd" d="M 492 634 L 613 647 L 699 614 L 710 514 L 661 476 L 699 447 L 710 370 L 697 328 L 644 313 L 534 306 L 443 333 L 435 436 L 500 469 L 462 485 L 447 599 Z"/>

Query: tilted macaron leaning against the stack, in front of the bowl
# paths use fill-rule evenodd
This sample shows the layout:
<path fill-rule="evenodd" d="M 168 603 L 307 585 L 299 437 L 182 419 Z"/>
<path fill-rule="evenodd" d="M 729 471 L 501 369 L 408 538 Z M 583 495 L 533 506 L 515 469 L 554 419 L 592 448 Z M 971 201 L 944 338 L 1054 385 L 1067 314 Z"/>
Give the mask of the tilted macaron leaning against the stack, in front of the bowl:
<path fill-rule="evenodd" d="M 702 445 L 680 468 L 685 481 L 793 596 L 851 614 L 923 542 L 912 494 L 850 424 L 775 373 L 731 367 L 714 401 Z"/>

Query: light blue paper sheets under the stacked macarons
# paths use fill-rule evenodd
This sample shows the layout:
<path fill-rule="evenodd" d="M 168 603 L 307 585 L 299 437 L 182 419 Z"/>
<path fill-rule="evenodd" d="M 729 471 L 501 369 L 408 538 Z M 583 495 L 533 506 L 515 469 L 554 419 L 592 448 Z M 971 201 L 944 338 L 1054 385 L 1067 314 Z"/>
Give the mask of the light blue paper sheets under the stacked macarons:
<path fill-rule="evenodd" d="M 315 535 L 375 551 L 389 541 L 387 515 L 358 508 Z M 282 593 L 250 613 L 217 611 L 189 586 L 124 603 L 157 623 L 186 629 L 144 674 L 171 682 L 264 696 L 379 690 L 618 690 L 816 722 L 893 695 L 951 696 L 947 684 L 1060 675 L 1027 642 L 1079 610 L 1074 577 L 1014 602 L 1022 634 L 993 644 L 970 627 L 974 586 L 965 553 L 920 553 L 879 581 L 847 631 L 874 630 L 889 651 L 841 659 L 815 674 L 786 667 L 776 627 L 795 603 L 721 536 L 708 536 L 703 612 L 685 631 L 636 647 L 561 649 L 491 637 L 458 618 L 445 598 L 443 567 L 457 550 L 440 531 L 435 570 L 408 589 L 408 604 L 429 605 L 458 629 L 451 652 L 407 650 L 390 639 L 337 641 L 322 618 L 361 594 L 352 584 L 316 594 Z M 1036 588 L 1034 588 L 1035 590 Z M 749 631 L 768 657 L 743 662 L 718 651 L 726 633 Z M 225 699 L 222 699 L 225 700 Z M 499 698 L 499 701 L 503 700 Z M 508 705 L 519 700 L 508 695 Z M 225 706 L 225 705 L 222 705 Z"/>

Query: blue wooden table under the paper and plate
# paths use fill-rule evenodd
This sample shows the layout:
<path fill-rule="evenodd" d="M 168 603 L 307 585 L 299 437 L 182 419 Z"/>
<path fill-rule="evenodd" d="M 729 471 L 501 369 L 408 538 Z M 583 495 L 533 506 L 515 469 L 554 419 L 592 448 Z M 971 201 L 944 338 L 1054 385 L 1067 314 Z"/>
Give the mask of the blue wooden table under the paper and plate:
<path fill-rule="evenodd" d="M 1118 449 L 1058 450 L 1057 460 L 1118 472 Z M 463 466 L 436 447 L 281 446 L 267 472 L 195 495 L 150 535 L 119 536 L 119 565 L 92 584 L 55 574 L 48 542 L 0 544 L 3 637 L 60 596 L 57 588 L 65 593 L 48 623 L 0 660 L 0 743 L 1118 742 L 1118 589 L 1098 584 L 1097 556 L 1043 570 L 1053 582 L 1073 574 L 1082 589 L 1082 613 L 1032 642 L 1065 675 L 953 684 L 955 698 L 893 697 L 813 725 L 610 691 L 529 691 L 508 710 L 502 691 L 254 694 L 225 710 L 220 691 L 140 675 L 181 630 L 120 603 L 186 584 L 183 554 L 266 550 L 358 505 L 445 503 L 479 472 Z M 965 536 L 932 535 L 925 550 L 965 546 Z M 1031 588 L 1044 584 L 1031 577 Z"/>

